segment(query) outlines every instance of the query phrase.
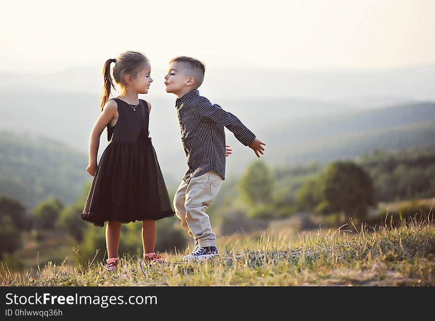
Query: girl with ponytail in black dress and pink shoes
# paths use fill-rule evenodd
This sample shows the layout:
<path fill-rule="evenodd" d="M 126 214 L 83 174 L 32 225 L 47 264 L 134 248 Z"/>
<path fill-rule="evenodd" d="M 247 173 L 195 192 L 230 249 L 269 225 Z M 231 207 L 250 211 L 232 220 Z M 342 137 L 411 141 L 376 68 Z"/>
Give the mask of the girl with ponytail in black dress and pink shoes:
<path fill-rule="evenodd" d="M 109 99 L 110 75 L 122 89 L 121 95 Z M 116 59 L 109 59 L 103 67 L 104 86 L 101 114 L 92 128 L 89 139 L 89 165 L 93 176 L 81 219 L 96 226 L 106 226 L 107 271 L 116 270 L 122 223 L 142 221 L 144 261 L 162 262 L 154 253 L 156 220 L 174 216 L 168 190 L 157 161 L 156 152 L 148 137 L 151 104 L 139 99 L 152 83 L 151 66 L 141 52 L 126 51 Z M 107 126 L 109 145 L 97 166 L 99 139 Z"/>

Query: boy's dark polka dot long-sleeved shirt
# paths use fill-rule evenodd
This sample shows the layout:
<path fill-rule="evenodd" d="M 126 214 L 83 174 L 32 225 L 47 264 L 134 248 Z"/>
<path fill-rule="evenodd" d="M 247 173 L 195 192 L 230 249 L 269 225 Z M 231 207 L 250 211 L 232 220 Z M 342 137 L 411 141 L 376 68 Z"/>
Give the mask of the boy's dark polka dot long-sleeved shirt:
<path fill-rule="evenodd" d="M 189 170 L 183 177 L 189 183 L 192 177 L 215 171 L 225 179 L 225 130 L 228 128 L 242 144 L 251 144 L 255 135 L 233 114 L 194 90 L 175 101 L 181 132 L 181 142 Z"/>

